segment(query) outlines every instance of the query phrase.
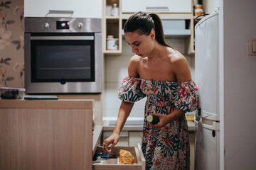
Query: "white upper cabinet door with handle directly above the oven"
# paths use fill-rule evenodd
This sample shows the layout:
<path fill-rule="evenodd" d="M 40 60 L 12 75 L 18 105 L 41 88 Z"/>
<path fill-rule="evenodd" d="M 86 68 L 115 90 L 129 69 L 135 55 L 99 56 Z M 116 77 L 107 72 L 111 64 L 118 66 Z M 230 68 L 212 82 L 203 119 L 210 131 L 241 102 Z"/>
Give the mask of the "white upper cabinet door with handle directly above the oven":
<path fill-rule="evenodd" d="M 24 16 L 102 18 L 102 0 L 24 0 Z"/>

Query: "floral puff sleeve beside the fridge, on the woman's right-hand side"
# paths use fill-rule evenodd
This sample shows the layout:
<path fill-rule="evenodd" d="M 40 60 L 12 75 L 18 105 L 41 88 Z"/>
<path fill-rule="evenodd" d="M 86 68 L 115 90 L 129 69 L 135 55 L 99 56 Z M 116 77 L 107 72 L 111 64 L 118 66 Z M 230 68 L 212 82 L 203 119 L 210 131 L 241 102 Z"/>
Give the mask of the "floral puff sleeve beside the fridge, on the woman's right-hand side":
<path fill-rule="evenodd" d="M 177 93 L 174 96 L 174 106 L 181 111 L 195 111 L 198 106 L 198 88 L 196 83 L 191 80 L 181 82 L 177 85 Z"/>

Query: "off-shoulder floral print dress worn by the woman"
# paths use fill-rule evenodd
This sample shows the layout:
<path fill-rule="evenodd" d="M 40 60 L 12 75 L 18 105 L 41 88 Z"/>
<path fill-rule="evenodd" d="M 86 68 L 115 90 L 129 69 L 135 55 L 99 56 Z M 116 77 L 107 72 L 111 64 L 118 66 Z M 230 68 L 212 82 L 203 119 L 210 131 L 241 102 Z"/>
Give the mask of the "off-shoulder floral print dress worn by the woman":
<path fill-rule="evenodd" d="M 198 89 L 191 81 L 170 82 L 125 77 L 118 97 L 136 102 L 147 97 L 144 114 L 142 151 L 146 169 L 189 169 L 188 125 L 185 114 L 161 130 L 146 122 L 151 113 L 170 114 L 174 108 L 189 112 L 196 110 Z"/>

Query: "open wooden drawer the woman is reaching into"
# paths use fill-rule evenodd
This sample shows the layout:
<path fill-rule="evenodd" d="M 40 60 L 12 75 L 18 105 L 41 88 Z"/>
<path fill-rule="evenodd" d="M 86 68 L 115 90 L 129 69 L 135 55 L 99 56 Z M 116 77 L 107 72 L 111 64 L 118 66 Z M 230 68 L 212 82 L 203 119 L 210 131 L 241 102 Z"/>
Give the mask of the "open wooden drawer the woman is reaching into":
<path fill-rule="evenodd" d="M 119 164 L 119 150 L 124 149 L 132 153 L 134 156 L 134 164 Z M 102 152 L 101 147 L 97 147 L 96 153 Z M 114 147 L 113 152 L 117 155 L 117 158 L 104 159 L 100 158 L 96 161 L 92 161 L 93 170 L 144 170 L 145 158 L 142 153 L 141 145 L 137 144 L 137 147 Z"/>

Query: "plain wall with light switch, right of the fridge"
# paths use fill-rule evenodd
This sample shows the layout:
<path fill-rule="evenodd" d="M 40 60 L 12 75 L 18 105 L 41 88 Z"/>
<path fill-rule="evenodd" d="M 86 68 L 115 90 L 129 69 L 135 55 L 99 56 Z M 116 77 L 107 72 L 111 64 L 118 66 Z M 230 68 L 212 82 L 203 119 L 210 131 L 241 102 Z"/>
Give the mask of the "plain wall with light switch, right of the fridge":
<path fill-rule="evenodd" d="M 224 43 L 225 170 L 255 169 L 256 56 L 247 55 L 256 38 L 256 1 L 222 0 Z"/>

